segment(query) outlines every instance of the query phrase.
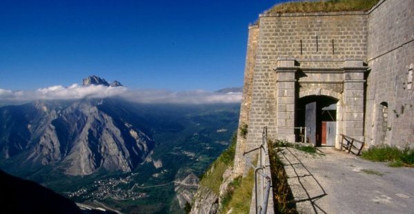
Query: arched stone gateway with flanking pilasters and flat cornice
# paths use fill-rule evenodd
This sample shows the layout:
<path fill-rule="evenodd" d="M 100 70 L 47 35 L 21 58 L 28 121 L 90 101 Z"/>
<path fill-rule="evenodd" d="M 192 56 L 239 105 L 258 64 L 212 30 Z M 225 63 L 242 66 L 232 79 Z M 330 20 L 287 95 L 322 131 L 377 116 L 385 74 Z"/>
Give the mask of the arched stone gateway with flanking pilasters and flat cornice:
<path fill-rule="evenodd" d="M 313 62 L 316 66 L 309 68 L 295 59 L 277 61 L 277 138 L 300 141 L 303 133 L 298 127 L 306 127 L 306 141 L 316 146 L 339 146 L 339 134 L 363 138 L 367 67 L 362 60 L 329 63 L 335 66 Z M 286 122 L 289 119 L 294 127 Z"/>

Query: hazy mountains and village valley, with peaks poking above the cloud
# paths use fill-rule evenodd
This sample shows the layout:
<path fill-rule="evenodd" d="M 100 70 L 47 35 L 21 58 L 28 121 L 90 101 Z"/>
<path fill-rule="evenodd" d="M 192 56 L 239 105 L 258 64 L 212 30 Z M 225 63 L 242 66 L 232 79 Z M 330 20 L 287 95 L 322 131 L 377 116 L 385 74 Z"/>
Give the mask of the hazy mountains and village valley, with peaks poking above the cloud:
<path fill-rule="evenodd" d="M 83 85 L 122 86 L 96 76 Z M 0 168 L 76 202 L 180 213 L 198 176 L 227 148 L 238 115 L 239 104 L 137 104 L 120 97 L 3 106 Z"/>

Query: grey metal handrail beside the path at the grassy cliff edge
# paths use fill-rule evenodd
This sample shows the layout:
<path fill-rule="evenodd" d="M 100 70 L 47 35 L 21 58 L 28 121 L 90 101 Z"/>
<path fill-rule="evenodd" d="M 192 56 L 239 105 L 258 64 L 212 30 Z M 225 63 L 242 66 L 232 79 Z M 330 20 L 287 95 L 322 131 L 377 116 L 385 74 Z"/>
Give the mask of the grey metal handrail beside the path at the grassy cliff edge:
<path fill-rule="evenodd" d="M 258 166 L 255 166 L 250 159 L 246 156 L 248 153 L 251 153 L 255 150 L 260 150 L 260 161 Z M 267 213 L 267 205 L 268 205 L 268 197 L 270 193 L 270 186 L 271 186 L 271 179 L 268 175 L 266 175 L 266 154 L 267 153 L 267 127 L 264 126 L 262 132 L 262 145 L 257 148 L 253 148 L 245 153 L 243 153 L 244 159 L 246 162 L 255 169 L 255 202 L 256 202 L 256 213 L 266 214 Z M 262 182 L 260 182 L 259 186 L 257 185 L 257 175 L 260 175 Z M 266 179 L 266 188 L 264 186 L 264 179 Z"/>

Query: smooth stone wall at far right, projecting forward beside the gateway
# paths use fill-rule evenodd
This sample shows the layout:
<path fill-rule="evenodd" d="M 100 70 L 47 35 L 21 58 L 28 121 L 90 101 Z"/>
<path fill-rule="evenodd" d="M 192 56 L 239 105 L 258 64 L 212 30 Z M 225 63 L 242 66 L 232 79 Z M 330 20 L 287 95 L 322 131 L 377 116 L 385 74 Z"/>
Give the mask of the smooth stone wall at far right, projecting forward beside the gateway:
<path fill-rule="evenodd" d="M 366 62 L 371 71 L 366 78 L 364 132 L 368 145 L 414 147 L 414 87 L 409 83 L 413 41 L 413 0 L 381 1 L 369 12 Z"/>

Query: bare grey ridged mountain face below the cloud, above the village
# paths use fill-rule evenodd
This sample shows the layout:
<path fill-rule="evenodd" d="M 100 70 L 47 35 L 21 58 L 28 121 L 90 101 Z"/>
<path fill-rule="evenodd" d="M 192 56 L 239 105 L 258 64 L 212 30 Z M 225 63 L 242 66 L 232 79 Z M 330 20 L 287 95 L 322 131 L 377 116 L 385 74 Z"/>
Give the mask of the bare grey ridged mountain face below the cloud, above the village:
<path fill-rule="evenodd" d="M 83 99 L 0 108 L 0 159 L 51 164 L 68 175 L 132 171 L 154 142 L 130 122 L 130 114 L 112 117 L 102 110 L 109 107 L 117 108 L 112 101 Z"/>

